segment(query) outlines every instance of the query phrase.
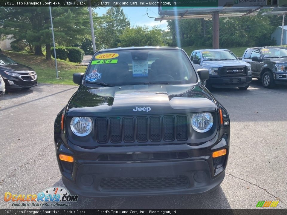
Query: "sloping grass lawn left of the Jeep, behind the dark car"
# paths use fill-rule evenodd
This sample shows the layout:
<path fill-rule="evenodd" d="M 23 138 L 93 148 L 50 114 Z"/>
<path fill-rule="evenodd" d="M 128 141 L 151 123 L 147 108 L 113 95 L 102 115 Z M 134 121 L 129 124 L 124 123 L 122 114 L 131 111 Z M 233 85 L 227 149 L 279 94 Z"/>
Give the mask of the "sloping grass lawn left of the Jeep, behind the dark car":
<path fill-rule="evenodd" d="M 33 68 L 38 76 L 39 83 L 76 85 L 73 82 L 73 73 L 84 73 L 86 66 L 78 63 L 57 59 L 59 79 L 56 79 L 55 60 L 46 60 L 43 56 L 33 54 L 18 53 L 12 51 L 2 51 L 4 55 L 14 61 Z"/>

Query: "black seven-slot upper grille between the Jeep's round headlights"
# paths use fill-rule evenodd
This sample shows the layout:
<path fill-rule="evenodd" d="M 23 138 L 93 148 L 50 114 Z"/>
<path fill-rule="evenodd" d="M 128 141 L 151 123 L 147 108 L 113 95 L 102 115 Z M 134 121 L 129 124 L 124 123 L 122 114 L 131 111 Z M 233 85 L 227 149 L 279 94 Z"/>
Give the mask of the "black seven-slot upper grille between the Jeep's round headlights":
<path fill-rule="evenodd" d="M 100 117 L 96 118 L 95 131 L 98 143 L 184 141 L 188 139 L 188 117 Z"/>

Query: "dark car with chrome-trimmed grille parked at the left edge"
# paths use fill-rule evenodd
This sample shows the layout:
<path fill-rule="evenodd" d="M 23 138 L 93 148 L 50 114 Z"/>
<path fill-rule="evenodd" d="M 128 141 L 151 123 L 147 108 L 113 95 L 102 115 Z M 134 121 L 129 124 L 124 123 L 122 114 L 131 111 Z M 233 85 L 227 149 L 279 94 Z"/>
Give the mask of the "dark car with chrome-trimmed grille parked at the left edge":
<path fill-rule="evenodd" d="M 11 58 L 0 54 L 0 75 L 6 89 L 27 89 L 37 84 L 37 74 L 32 68 L 16 63 Z"/>

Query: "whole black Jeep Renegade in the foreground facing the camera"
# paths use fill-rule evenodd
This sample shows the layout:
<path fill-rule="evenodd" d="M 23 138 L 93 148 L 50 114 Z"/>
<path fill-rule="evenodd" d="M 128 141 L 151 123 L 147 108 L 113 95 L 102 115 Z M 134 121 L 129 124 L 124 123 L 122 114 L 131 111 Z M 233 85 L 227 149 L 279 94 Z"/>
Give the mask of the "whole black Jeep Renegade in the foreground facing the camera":
<path fill-rule="evenodd" d="M 230 121 L 184 50 L 130 47 L 94 54 L 55 119 L 56 157 L 82 196 L 202 193 L 225 176 Z"/>

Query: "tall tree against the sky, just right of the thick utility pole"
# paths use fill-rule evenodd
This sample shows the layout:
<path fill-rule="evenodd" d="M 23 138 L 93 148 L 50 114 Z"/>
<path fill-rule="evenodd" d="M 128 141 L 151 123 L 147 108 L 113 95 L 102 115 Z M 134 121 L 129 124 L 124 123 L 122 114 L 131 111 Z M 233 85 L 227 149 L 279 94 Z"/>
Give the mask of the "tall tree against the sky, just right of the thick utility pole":
<path fill-rule="evenodd" d="M 104 47 L 117 47 L 118 38 L 130 22 L 121 7 L 110 7 L 104 14 L 100 27 L 100 40 Z"/>

